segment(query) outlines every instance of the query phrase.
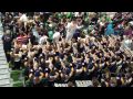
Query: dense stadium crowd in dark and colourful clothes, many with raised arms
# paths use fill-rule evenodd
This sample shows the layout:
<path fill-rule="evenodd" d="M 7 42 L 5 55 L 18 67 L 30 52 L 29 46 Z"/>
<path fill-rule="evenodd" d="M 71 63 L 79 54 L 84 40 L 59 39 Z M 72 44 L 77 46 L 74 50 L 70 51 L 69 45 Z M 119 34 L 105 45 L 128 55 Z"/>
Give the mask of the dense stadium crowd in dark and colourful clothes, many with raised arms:
<path fill-rule="evenodd" d="M 132 12 L 6 12 L 3 48 L 32 87 L 133 85 Z"/>

